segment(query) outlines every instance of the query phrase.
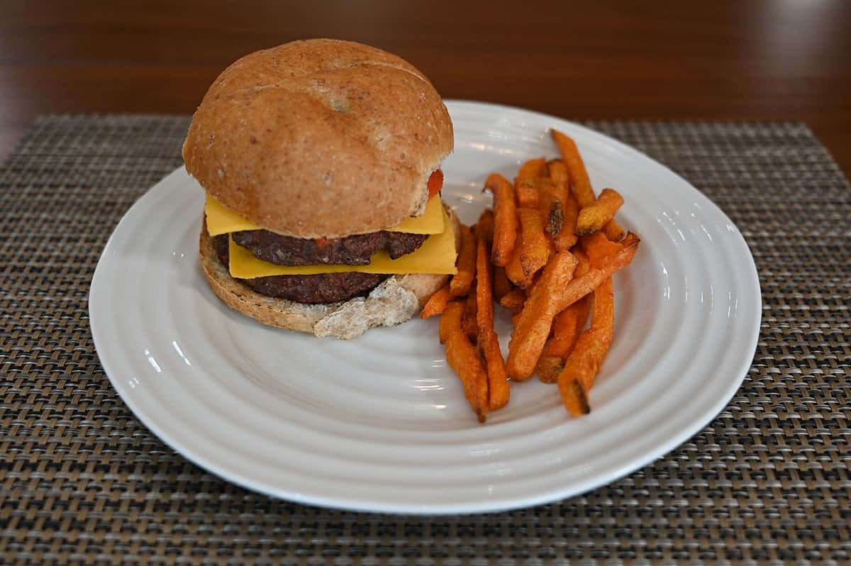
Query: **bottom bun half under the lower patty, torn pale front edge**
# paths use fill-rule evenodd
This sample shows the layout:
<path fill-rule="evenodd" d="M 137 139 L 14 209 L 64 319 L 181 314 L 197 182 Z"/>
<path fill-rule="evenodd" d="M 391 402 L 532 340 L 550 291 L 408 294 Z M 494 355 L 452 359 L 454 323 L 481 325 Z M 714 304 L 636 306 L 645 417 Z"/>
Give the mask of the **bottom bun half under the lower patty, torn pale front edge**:
<path fill-rule="evenodd" d="M 450 214 L 450 219 L 457 245 L 458 220 L 454 214 Z M 215 253 L 206 225 L 201 229 L 200 252 L 204 277 L 227 306 L 260 323 L 316 334 L 320 338 L 349 340 L 376 326 L 403 323 L 419 312 L 449 277 L 425 273 L 394 275 L 365 297 L 329 305 L 310 305 L 267 297 L 231 277 Z"/>

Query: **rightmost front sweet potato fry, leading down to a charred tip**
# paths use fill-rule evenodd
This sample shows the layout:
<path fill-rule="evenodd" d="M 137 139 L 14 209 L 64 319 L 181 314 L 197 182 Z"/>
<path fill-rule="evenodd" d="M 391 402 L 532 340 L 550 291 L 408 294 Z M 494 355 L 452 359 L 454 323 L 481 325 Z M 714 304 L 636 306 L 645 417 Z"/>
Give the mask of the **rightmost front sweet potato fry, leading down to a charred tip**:
<path fill-rule="evenodd" d="M 606 277 L 603 283 L 594 289 L 594 308 L 591 312 L 591 327 L 580 334 L 574 351 L 564 363 L 558 374 L 558 382 L 565 385 L 575 382 L 582 386 L 587 395 L 600 370 L 603 358 L 612 345 L 614 334 L 614 292 L 612 277 Z"/>

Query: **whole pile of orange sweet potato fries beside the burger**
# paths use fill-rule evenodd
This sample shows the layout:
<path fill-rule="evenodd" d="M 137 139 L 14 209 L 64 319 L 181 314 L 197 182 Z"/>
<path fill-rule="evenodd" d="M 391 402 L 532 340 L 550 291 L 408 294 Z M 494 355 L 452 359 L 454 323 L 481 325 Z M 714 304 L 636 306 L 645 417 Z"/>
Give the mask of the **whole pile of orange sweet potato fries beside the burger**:
<path fill-rule="evenodd" d="M 570 414 L 589 412 L 588 391 L 614 333 L 612 275 L 638 248 L 638 237 L 614 220 L 620 193 L 595 196 L 574 140 L 551 134 L 561 159 L 524 163 L 513 184 L 488 176 L 494 208 L 461 226 L 458 273 L 421 315 L 442 314 L 447 361 L 482 422 L 508 403 L 509 380 L 535 372 L 558 384 Z M 494 300 L 513 313 L 505 360 Z"/>

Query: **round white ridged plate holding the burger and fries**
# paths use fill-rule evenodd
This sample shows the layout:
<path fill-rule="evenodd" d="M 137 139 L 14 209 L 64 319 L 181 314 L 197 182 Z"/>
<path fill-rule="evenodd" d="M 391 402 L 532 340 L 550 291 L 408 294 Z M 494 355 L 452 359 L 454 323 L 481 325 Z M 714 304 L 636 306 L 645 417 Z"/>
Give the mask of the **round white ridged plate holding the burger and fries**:
<path fill-rule="evenodd" d="M 210 472 L 268 495 L 380 512 L 485 512 L 577 495 L 648 464 L 705 426 L 757 344 L 751 254 L 677 174 L 603 134 L 504 106 L 448 102 L 444 198 L 472 222 L 486 175 L 557 155 L 574 136 L 597 190 L 625 197 L 642 243 L 615 276 L 614 345 L 591 414 L 555 386 L 511 387 L 479 425 L 437 342 L 437 318 L 318 340 L 232 312 L 197 260 L 203 192 L 183 169 L 151 188 L 104 249 L 89 297 L 94 344 L 125 403 Z M 507 317 L 497 308 L 503 351 Z"/>

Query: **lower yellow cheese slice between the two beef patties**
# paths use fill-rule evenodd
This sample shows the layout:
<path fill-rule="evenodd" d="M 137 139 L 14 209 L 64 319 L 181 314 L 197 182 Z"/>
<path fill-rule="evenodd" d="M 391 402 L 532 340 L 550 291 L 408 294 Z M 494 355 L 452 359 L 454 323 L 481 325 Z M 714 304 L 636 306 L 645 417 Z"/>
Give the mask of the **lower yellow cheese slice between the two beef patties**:
<path fill-rule="evenodd" d="M 441 207 L 441 221 L 446 229 L 440 234 L 432 234 L 419 249 L 405 254 L 397 260 L 391 260 L 385 250 L 373 254 L 367 266 L 277 266 L 268 261 L 258 260 L 230 238 L 231 277 L 253 279 L 271 275 L 316 275 L 317 273 L 362 272 L 362 273 L 436 273 L 454 275 L 455 235 L 446 212 Z"/>

